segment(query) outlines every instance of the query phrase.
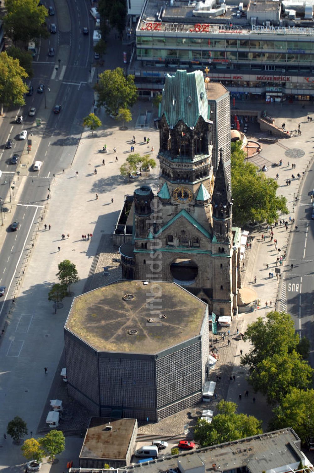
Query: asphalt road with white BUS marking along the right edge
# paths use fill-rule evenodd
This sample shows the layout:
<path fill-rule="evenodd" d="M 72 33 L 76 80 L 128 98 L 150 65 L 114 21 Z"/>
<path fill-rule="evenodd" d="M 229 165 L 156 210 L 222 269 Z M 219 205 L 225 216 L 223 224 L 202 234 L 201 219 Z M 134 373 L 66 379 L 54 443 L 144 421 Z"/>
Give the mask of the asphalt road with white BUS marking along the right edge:
<path fill-rule="evenodd" d="M 314 166 L 308 171 L 295 211 L 295 225 L 286 272 L 287 312 L 295 319 L 297 332 L 311 343 L 310 363 L 314 367 L 314 220 L 311 219 Z"/>

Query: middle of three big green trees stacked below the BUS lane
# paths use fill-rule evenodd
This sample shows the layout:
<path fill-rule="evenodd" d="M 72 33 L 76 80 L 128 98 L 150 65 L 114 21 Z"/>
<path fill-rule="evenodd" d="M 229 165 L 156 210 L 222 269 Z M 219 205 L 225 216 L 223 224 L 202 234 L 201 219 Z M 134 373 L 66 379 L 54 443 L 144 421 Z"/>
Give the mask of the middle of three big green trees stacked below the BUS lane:
<path fill-rule="evenodd" d="M 269 404 L 280 403 L 291 388 L 307 389 L 313 372 L 308 362 L 293 350 L 265 358 L 250 374 L 249 383 L 255 392 L 260 391 L 267 396 Z"/>

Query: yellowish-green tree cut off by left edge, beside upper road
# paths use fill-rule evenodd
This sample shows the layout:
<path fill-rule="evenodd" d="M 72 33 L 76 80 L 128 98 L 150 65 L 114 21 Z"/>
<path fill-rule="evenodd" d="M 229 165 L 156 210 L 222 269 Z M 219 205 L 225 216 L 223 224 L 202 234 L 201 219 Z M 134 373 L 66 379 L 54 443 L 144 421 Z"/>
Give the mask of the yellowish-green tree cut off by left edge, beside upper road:
<path fill-rule="evenodd" d="M 1 114 L 3 105 L 25 105 L 24 94 L 28 87 L 23 82 L 27 77 L 17 59 L 0 53 L 0 103 Z"/>

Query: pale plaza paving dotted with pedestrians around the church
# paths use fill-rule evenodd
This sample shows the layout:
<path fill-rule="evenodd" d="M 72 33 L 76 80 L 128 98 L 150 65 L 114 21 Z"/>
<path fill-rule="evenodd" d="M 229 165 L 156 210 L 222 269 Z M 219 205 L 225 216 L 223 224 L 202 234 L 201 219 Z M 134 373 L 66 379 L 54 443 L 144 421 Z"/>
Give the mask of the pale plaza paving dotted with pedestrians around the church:
<path fill-rule="evenodd" d="M 237 104 L 238 105 L 238 104 Z M 245 108 L 250 104 L 245 104 Z M 152 109 L 150 103 L 141 103 L 144 107 Z M 263 104 L 252 104 L 252 107 L 265 108 Z M 289 123 L 289 128 L 297 128 L 301 123 L 302 136 L 296 136 L 289 140 L 280 140 L 273 145 L 263 145 L 263 152 L 259 156 L 263 161 L 271 163 L 283 160 L 283 166 L 279 168 L 269 167 L 268 176 L 275 177 L 278 172 L 280 193 L 288 199 L 290 215 L 292 216 L 293 193 L 297 193 L 301 180 L 293 180 L 289 187 L 285 181 L 291 175 L 291 169 L 287 162 L 296 163 L 294 174 L 301 173 L 313 157 L 314 122 L 307 123 L 307 110 L 302 110 L 298 105 L 286 107 L 284 105 L 269 106 L 268 113 L 276 118 L 277 123 L 283 120 Z M 138 104 L 134 108 L 134 123 L 140 113 Z M 149 130 L 134 130 L 133 123 L 128 124 L 127 131 L 118 129 L 115 122 L 104 116 L 103 129 L 92 133 L 85 131 L 78 146 L 76 157 L 70 169 L 56 176 L 51 185 L 51 199 L 48 204 L 47 213 L 41 223 L 40 232 L 35 240 L 34 251 L 25 272 L 15 308 L 10 315 L 10 323 L 7 332 L 0 345 L 1 363 L 1 386 L 0 386 L 0 432 L 6 430 L 8 421 L 15 415 L 19 415 L 26 422 L 29 431 L 36 432 L 43 406 L 48 398 L 51 384 L 59 366 L 59 360 L 63 351 L 63 325 L 65 323 L 72 298 L 63 301 L 64 307 L 54 314 L 52 303 L 47 300 L 47 293 L 51 285 L 57 282 L 56 272 L 58 263 L 63 259 L 69 259 L 76 264 L 80 281 L 72 287 L 75 295 L 80 294 L 84 288 L 93 289 L 104 283 L 115 280 L 120 275 L 120 269 L 112 264 L 117 249 L 112 246 L 111 235 L 117 222 L 119 211 L 123 205 L 124 195 L 132 194 L 134 188 L 141 184 L 152 185 L 153 191 L 158 188 L 159 166 L 153 170 L 148 177 L 142 176 L 136 182 L 127 182 L 119 175 L 119 166 L 130 153 L 130 143 L 133 135 L 136 137 L 135 152 L 149 152 L 151 147 L 159 149 L 159 132 L 153 128 Z M 287 126 L 288 127 L 288 126 Z M 149 136 L 149 145 L 144 143 L 144 135 Z M 106 144 L 108 154 L 99 153 L 99 149 Z M 113 148 L 117 148 L 117 153 Z M 289 149 L 301 149 L 302 153 L 296 153 L 295 158 L 287 158 L 285 153 Z M 115 157 L 118 156 L 118 162 Z M 105 158 L 105 166 L 102 159 Z M 94 173 L 96 168 L 97 174 Z M 78 176 L 76 177 L 76 171 Z M 96 193 L 98 199 L 96 199 Z M 16 192 L 18 195 L 18 189 Z M 111 198 L 114 198 L 111 203 Z M 289 218 L 289 215 L 288 215 Z M 51 224 L 51 230 L 44 230 L 43 224 Z M 290 228 L 289 228 L 290 231 Z M 289 231 L 284 228 L 276 228 L 275 237 L 278 239 L 279 247 L 286 249 L 289 241 Z M 61 234 L 69 233 L 69 238 L 61 239 Z M 93 237 L 83 241 L 81 235 L 92 233 Z M 257 276 L 255 289 L 262 299 L 261 308 L 253 314 L 238 315 L 234 318 L 231 333 L 235 333 L 237 327 L 244 332 L 248 323 L 257 316 L 265 316 L 271 310 L 266 309 L 266 300 L 274 301 L 277 298 L 278 282 L 275 278 L 268 278 L 265 264 L 269 263 L 275 267 L 274 247 L 262 242 L 260 233 L 254 234 L 252 249 L 246 254 L 245 284 L 252 284 L 254 276 Z M 58 246 L 61 247 L 60 252 Z M 44 264 L 43 264 L 44 262 Z M 289 253 L 286 266 L 289 265 Z M 103 276 L 103 267 L 109 268 L 108 276 Z M 283 269 L 286 269 L 286 266 Z M 92 269 L 91 269 L 92 268 Z M 92 278 L 87 280 L 87 278 Z M 284 303 L 284 301 L 283 301 Z M 23 320 L 30 320 L 28 328 L 20 331 L 19 327 Z M 21 341 L 22 348 L 15 356 L 10 356 L 12 341 Z M 264 421 L 264 427 L 270 416 L 270 409 L 266 406 L 262 396 L 256 394 L 256 402 L 253 403 L 253 395 L 248 398 L 242 395 L 242 401 L 238 401 L 238 394 L 244 394 L 246 385 L 244 369 L 239 367 L 239 350 L 244 352 L 249 349 L 248 342 L 238 342 L 232 338 L 230 346 L 219 342 L 220 359 L 215 369 L 210 373 L 211 379 L 221 376 L 217 383 L 217 400 L 232 400 L 239 404 L 239 412 L 247 412 L 256 415 Z M 44 367 L 48 368 L 45 375 Z M 235 374 L 236 380 L 229 381 L 230 374 Z M 57 372 L 57 376 L 59 376 Z M 206 407 L 208 403 L 206 404 Z M 195 423 L 195 415 L 200 412 L 202 406 L 182 411 L 176 416 L 162 420 L 159 424 L 146 424 L 140 426 L 139 433 L 162 433 L 163 435 L 178 435 L 183 432 L 183 426 Z M 187 414 L 190 412 L 191 414 Z M 62 473 L 65 471 L 66 461 L 76 461 L 80 438 L 67 438 L 67 451 L 61 455 L 59 463 L 54 464 L 51 471 Z M 10 468 L 20 471 L 25 464 L 20 453 L 20 447 L 13 445 L 10 438 L 1 439 L 1 469 Z M 75 463 L 77 464 L 77 463 Z M 50 464 L 45 464 L 42 471 L 46 473 Z"/>

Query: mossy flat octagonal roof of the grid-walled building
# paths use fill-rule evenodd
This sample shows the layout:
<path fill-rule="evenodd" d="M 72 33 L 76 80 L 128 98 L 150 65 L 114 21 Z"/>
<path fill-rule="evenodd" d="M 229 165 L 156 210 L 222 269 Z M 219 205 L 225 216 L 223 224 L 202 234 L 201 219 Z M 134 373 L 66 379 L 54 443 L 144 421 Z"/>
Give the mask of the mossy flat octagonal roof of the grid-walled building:
<path fill-rule="evenodd" d="M 95 350 L 155 354 L 198 336 L 206 311 L 174 282 L 119 280 L 74 298 L 65 329 Z"/>

